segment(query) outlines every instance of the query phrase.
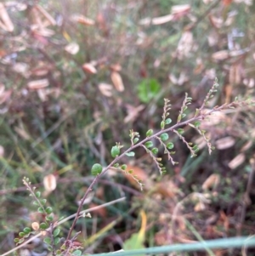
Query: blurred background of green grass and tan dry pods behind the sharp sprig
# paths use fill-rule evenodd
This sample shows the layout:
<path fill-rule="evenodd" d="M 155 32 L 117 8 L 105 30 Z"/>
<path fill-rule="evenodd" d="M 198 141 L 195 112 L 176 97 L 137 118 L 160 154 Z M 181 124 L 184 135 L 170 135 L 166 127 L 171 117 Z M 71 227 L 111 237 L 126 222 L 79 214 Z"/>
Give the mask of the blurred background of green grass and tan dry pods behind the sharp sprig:
<path fill-rule="evenodd" d="M 254 14 L 252 0 L 2 1 L 0 253 L 42 219 L 24 176 L 48 199 L 55 219 L 68 216 L 93 179 L 94 162 L 111 162 L 116 142 L 128 147 L 131 128 L 141 136 L 160 129 L 164 98 L 171 100 L 173 120 L 184 93 L 193 98 L 192 115 L 215 77 L 220 89 L 210 107 L 236 96 L 254 98 Z M 190 158 L 173 136 L 179 164 L 163 158 L 163 177 L 142 150 L 132 161 L 123 159 L 144 191 L 117 172 L 99 180 L 84 208 L 122 196 L 126 201 L 79 220 L 84 252 L 128 247 L 138 232 L 145 234 L 144 247 L 253 235 L 254 120 L 248 107 L 206 120 L 202 126 L 216 145 L 212 156 L 199 134 L 184 128 L 201 151 Z M 20 255 L 44 250 L 38 239 Z"/>

